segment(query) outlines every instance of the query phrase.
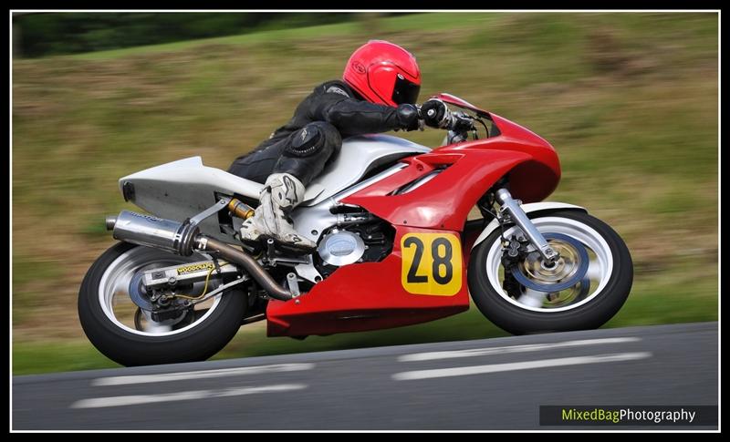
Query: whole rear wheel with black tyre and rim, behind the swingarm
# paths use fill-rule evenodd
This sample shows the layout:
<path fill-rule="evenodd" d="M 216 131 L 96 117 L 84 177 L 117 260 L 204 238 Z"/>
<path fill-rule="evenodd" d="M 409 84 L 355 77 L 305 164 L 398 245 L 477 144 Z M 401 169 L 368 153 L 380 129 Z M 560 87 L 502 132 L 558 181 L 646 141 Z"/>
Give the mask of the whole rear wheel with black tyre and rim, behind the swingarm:
<path fill-rule="evenodd" d="M 78 318 L 89 341 L 120 365 L 202 361 L 228 344 L 247 306 L 244 293 L 232 290 L 154 321 L 132 301 L 141 272 L 201 261 L 149 247 L 120 242 L 94 262 L 78 293 Z M 213 288 L 221 281 L 211 278 Z M 203 283 L 185 289 L 203 293 Z"/>

